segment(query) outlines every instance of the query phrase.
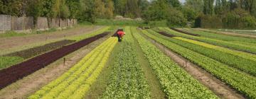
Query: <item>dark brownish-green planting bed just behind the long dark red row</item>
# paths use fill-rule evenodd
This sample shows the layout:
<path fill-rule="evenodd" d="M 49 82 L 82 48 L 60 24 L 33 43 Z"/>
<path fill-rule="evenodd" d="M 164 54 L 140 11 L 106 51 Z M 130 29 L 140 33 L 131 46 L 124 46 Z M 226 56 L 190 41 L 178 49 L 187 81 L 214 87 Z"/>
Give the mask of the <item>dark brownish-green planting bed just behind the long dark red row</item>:
<path fill-rule="evenodd" d="M 58 42 L 52 42 L 47 45 L 39 46 L 39 47 L 33 47 L 28 50 L 21 50 L 19 52 L 14 52 L 11 54 L 6 54 L 4 56 L 8 57 L 22 57 L 23 59 L 28 59 L 31 57 L 34 57 L 38 54 L 42 54 L 43 52 L 48 52 L 50 50 L 54 50 L 58 47 L 63 47 L 65 45 L 68 45 L 72 42 L 75 42 L 75 40 L 60 40 Z"/>

